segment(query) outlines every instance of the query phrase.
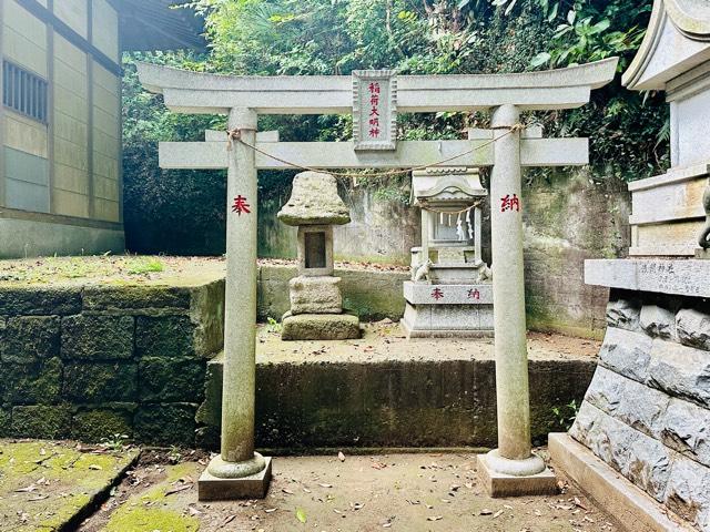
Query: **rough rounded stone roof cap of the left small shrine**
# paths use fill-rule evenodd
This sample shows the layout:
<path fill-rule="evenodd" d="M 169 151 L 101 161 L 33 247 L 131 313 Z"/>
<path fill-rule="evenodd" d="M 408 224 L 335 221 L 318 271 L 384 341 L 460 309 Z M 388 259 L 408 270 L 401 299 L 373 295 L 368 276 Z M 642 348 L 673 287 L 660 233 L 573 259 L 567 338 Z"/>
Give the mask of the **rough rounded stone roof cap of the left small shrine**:
<path fill-rule="evenodd" d="M 335 177 L 322 172 L 297 174 L 291 198 L 277 216 L 286 225 L 343 225 L 351 221 Z"/>

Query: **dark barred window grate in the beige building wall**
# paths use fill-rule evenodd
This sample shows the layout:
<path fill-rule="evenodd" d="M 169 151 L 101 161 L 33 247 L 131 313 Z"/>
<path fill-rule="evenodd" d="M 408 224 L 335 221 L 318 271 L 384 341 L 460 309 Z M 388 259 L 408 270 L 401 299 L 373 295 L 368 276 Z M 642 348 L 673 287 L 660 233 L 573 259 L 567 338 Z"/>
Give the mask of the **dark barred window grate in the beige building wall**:
<path fill-rule="evenodd" d="M 9 61 L 2 62 L 2 104 L 47 123 L 47 81 Z"/>

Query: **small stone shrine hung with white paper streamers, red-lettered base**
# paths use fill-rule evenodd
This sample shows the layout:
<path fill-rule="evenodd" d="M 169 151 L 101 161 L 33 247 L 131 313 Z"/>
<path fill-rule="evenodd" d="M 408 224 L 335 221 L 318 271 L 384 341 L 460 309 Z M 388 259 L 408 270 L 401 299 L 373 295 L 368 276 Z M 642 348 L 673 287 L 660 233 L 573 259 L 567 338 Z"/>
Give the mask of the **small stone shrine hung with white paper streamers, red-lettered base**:
<path fill-rule="evenodd" d="M 493 336 L 493 285 L 481 257 L 477 168 L 430 167 L 412 176 L 422 208 L 422 246 L 412 248 L 404 284 L 407 337 Z"/>

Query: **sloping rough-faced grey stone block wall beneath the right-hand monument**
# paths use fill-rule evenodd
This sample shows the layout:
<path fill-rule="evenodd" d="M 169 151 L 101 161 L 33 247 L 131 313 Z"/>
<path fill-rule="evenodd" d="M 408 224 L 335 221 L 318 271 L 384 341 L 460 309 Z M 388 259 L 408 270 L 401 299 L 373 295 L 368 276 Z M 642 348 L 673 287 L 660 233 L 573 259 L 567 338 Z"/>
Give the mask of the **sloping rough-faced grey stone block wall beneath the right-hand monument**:
<path fill-rule="evenodd" d="M 572 438 L 710 531 L 710 303 L 612 290 Z"/>

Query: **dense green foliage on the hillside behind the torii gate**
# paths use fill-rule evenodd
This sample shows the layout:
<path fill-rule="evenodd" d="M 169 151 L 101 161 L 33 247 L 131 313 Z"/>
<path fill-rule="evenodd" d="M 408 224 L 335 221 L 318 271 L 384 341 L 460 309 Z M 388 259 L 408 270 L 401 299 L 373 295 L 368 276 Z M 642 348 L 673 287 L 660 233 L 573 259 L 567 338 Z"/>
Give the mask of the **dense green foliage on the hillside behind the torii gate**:
<path fill-rule="evenodd" d="M 628 66 L 651 0 L 194 0 L 206 18 L 210 53 L 134 54 L 124 80 L 128 244 L 136 252 L 222 253 L 224 175 L 160 172 L 155 143 L 200 140 L 224 117 L 168 112 L 143 92 L 135 59 L 244 75 L 347 75 L 355 69 L 402 74 L 509 73 L 619 55 Z M 620 76 L 578 110 L 528 113 L 549 136 L 588 136 L 595 180 L 631 181 L 668 166 L 668 111 L 658 94 L 623 89 Z M 402 114 L 400 139 L 463 139 L 487 126 L 484 113 Z M 284 141 L 343 141 L 349 116 L 262 116 L 260 130 Z M 537 171 L 530 175 L 544 174 Z M 281 198 L 293 172 L 260 173 L 260 198 Z M 376 197 L 405 201 L 402 187 Z M 155 247 L 159 245 L 160 247 Z"/>

